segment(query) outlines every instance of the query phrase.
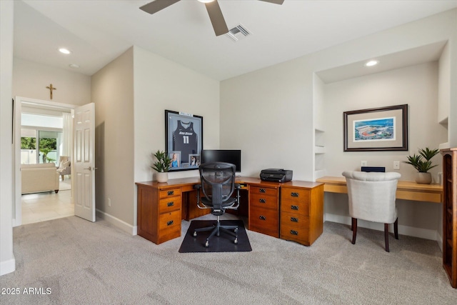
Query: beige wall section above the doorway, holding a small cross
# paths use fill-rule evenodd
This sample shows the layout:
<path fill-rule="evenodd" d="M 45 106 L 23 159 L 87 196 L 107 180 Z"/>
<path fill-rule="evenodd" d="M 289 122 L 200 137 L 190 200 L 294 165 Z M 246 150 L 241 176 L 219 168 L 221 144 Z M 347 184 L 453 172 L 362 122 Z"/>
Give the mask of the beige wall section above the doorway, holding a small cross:
<path fill-rule="evenodd" d="M 52 100 L 46 86 L 56 87 Z M 91 76 L 56 69 L 33 61 L 14 58 L 13 96 L 24 96 L 64 104 L 91 102 Z"/>

